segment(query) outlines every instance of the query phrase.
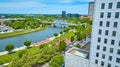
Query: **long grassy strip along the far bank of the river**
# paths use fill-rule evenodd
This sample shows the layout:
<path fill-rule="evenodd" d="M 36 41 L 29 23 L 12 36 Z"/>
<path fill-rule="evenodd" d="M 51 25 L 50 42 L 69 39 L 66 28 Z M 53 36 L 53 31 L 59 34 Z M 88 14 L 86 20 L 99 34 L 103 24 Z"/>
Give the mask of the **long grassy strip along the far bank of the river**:
<path fill-rule="evenodd" d="M 23 34 L 28 34 L 28 33 L 32 33 L 32 32 L 37 32 L 37 31 L 40 31 L 40 30 L 44 30 L 47 27 L 48 26 L 42 27 L 42 28 L 39 27 L 37 29 L 18 30 L 18 31 L 15 31 L 15 32 L 0 34 L 0 39 L 8 38 L 8 37 L 13 37 L 13 36 L 18 36 L 18 35 L 23 35 Z"/>

